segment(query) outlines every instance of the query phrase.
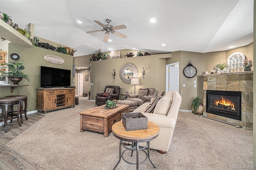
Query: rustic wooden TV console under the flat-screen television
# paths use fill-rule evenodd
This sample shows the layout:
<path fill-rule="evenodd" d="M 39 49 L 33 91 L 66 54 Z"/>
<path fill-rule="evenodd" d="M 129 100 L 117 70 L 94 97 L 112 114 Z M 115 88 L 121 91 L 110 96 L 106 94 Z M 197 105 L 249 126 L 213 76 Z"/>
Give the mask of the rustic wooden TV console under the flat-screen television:
<path fill-rule="evenodd" d="M 37 88 L 36 109 L 46 113 L 65 107 L 75 107 L 75 89 L 75 87 Z"/>

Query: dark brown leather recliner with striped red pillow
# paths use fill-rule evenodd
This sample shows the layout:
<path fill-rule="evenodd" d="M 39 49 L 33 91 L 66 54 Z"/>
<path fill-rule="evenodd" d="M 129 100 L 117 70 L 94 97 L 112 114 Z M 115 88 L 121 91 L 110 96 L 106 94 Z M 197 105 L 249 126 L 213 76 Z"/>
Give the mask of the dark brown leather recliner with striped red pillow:
<path fill-rule="evenodd" d="M 97 93 L 95 97 L 95 104 L 98 106 L 105 105 L 107 100 L 119 99 L 120 87 L 108 85 L 104 89 L 104 93 Z"/>

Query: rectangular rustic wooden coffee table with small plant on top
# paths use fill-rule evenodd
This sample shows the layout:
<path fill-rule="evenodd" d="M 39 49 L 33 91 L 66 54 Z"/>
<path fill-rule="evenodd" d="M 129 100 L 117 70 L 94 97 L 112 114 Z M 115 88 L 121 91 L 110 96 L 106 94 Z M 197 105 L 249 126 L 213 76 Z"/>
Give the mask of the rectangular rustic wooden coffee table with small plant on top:
<path fill-rule="evenodd" d="M 95 107 L 80 114 L 80 132 L 91 130 L 108 137 L 112 125 L 122 119 L 122 113 L 128 113 L 129 105 L 117 105 L 113 109 L 104 109 L 105 105 Z"/>

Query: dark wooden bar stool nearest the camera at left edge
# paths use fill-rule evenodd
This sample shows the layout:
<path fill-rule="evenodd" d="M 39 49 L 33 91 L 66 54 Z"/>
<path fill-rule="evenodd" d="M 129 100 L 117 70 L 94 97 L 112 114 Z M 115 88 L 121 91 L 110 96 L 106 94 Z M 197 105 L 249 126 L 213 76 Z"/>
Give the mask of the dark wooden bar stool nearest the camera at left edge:
<path fill-rule="evenodd" d="M 8 113 L 8 106 L 13 107 L 14 105 L 17 105 L 17 113 L 14 114 L 13 112 Z M 0 107 L 4 106 L 4 116 L 2 116 L 4 119 L 0 119 L 0 121 L 4 121 L 4 127 L 5 132 L 7 132 L 7 121 L 12 119 L 16 119 L 18 121 L 18 124 L 21 127 L 20 120 L 19 120 L 19 114 L 20 114 L 20 100 L 16 97 L 1 97 L 0 98 Z M 8 118 L 11 116 L 11 118 Z"/>

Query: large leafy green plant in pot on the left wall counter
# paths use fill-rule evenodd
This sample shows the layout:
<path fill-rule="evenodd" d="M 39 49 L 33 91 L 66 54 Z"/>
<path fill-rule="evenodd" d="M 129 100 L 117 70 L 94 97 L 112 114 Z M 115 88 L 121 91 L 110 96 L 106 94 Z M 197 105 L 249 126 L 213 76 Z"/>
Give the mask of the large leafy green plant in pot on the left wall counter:
<path fill-rule="evenodd" d="M 18 63 L 3 63 L 1 65 L 6 65 L 6 66 L 0 66 L 0 69 L 4 69 L 4 68 L 8 68 L 8 72 L 5 71 L 1 71 L 0 73 L 2 73 L 0 75 L 0 80 L 4 77 L 8 77 L 8 79 L 10 79 L 10 81 L 12 81 L 12 83 L 14 85 L 18 85 L 18 83 L 24 78 L 26 79 L 28 82 L 30 82 L 30 77 L 29 75 L 27 75 L 26 73 L 22 72 L 22 70 L 24 70 L 24 66 L 22 61 L 18 62 Z"/>

